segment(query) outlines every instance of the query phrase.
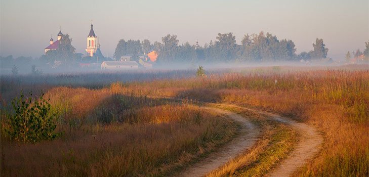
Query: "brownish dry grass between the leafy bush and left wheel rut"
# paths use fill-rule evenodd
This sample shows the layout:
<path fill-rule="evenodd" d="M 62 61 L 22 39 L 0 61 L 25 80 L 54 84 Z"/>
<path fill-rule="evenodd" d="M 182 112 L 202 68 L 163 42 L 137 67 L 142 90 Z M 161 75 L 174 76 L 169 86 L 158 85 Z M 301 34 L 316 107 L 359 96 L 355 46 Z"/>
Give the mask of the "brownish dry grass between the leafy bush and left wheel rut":
<path fill-rule="evenodd" d="M 166 175 L 214 151 L 237 129 L 221 115 L 187 102 L 117 95 L 108 89 L 57 87 L 47 95 L 54 109 L 62 111 L 58 130 L 64 136 L 37 144 L 3 137 L 2 175 Z M 101 116 L 101 109 L 110 114 Z M 108 116 L 116 119 L 101 120 Z"/>

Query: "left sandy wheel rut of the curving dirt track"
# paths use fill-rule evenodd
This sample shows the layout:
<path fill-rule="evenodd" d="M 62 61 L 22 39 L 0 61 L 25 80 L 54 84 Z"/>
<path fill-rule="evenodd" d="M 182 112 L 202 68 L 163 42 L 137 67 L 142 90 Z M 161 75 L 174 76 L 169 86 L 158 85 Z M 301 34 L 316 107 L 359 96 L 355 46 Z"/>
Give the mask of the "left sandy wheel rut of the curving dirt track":
<path fill-rule="evenodd" d="M 247 117 L 239 114 L 217 108 L 207 108 L 212 111 L 227 115 L 232 120 L 241 124 L 239 135 L 231 140 L 228 144 L 220 148 L 219 151 L 212 153 L 209 157 L 195 163 L 189 168 L 182 171 L 179 176 L 203 176 L 214 169 L 224 165 L 228 161 L 234 159 L 243 151 L 252 147 L 260 134 L 260 129 L 250 122 Z"/>

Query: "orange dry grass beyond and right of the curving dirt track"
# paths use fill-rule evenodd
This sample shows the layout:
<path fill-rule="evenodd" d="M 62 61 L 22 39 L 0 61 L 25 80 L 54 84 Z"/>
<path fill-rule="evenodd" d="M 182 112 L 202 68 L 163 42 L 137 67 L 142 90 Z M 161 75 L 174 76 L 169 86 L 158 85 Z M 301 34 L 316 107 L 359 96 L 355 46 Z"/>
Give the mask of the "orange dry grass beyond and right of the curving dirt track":
<path fill-rule="evenodd" d="M 296 117 L 318 127 L 324 136 L 320 154 L 296 175 L 369 174 L 369 70 L 230 73 L 122 87 L 157 96 L 255 106 Z"/>

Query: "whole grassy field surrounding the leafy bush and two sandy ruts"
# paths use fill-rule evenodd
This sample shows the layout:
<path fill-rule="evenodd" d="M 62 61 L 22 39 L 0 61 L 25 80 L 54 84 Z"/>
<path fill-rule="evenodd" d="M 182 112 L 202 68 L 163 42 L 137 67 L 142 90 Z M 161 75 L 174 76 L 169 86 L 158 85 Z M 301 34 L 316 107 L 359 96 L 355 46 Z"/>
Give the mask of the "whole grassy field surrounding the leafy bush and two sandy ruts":
<path fill-rule="evenodd" d="M 238 122 L 205 109 L 249 118 L 261 135 L 250 149 L 209 176 L 261 176 L 277 170 L 301 132 L 258 111 L 317 129 L 317 153 L 291 175 L 369 175 L 368 65 L 256 67 L 207 71 L 1 76 L 2 176 L 167 176 L 221 153 Z M 57 113 L 53 141 L 7 136 L 6 112 L 23 90 L 41 90 Z M 245 108 L 245 109 L 243 109 Z M 250 110 L 249 110 L 250 109 Z M 254 111 L 253 111 L 254 110 Z M 255 111 L 258 110 L 258 111 Z"/>

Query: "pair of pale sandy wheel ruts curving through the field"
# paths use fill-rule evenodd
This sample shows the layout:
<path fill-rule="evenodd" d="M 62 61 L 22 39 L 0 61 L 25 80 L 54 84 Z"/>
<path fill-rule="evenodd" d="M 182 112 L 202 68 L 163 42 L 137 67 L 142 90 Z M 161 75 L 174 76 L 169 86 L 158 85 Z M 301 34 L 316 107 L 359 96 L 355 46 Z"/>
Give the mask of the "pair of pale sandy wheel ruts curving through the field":
<path fill-rule="evenodd" d="M 317 129 L 306 123 L 297 122 L 289 118 L 264 111 L 258 111 L 235 105 L 222 105 L 233 106 L 240 109 L 247 109 L 262 115 L 269 116 L 276 121 L 285 123 L 293 127 L 301 135 L 300 142 L 298 143 L 295 150 L 292 151 L 286 159 L 282 160 L 281 164 L 278 167 L 269 172 L 267 174 L 268 176 L 290 176 L 291 174 L 293 174 L 294 171 L 304 165 L 308 159 L 311 159 L 319 151 L 319 146 L 323 142 L 323 138 L 319 134 Z M 252 124 L 247 117 L 242 117 L 239 114 L 222 109 L 207 109 L 226 114 L 231 119 L 240 122 L 242 124 L 240 136 L 232 140 L 229 144 L 222 147 L 220 151 L 211 154 L 206 159 L 201 160 L 200 162 L 195 163 L 193 166 L 189 167 L 185 171 L 182 171 L 182 174 L 180 174 L 179 176 L 203 176 L 210 171 L 217 169 L 218 167 L 227 163 L 229 160 L 235 158 L 239 153 L 252 147 L 252 145 L 256 143 L 257 138 L 260 135 L 260 129 L 256 125 Z"/>

